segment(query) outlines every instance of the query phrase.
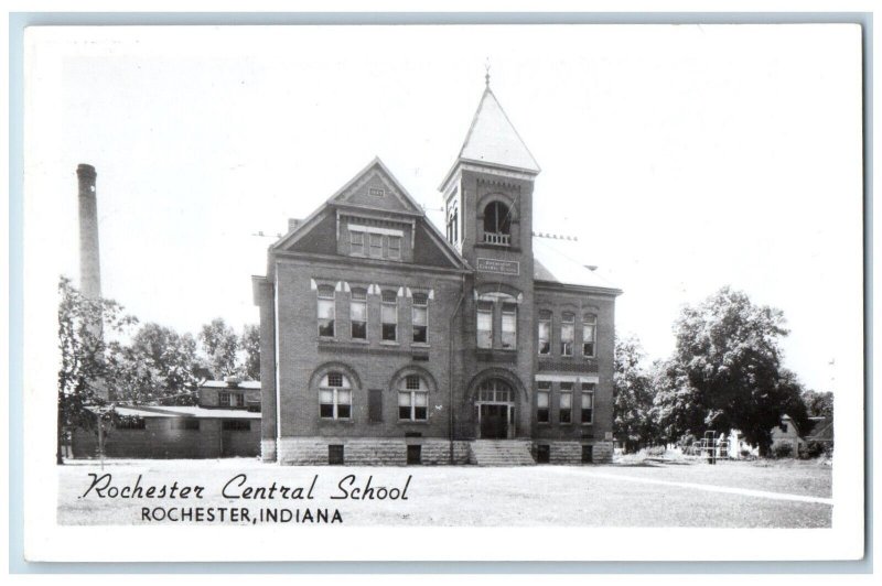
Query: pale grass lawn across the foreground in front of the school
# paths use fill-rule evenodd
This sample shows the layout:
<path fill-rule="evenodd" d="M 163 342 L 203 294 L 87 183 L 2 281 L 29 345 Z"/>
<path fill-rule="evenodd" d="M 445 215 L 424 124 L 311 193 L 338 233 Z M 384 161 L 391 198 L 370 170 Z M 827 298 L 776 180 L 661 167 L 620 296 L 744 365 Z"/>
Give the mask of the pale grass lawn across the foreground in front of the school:
<path fill-rule="evenodd" d="M 83 498 L 95 462 L 58 467 L 61 524 L 132 524 L 142 507 L 248 507 L 338 509 L 347 525 L 583 525 L 826 528 L 832 506 L 750 495 L 720 493 L 638 480 L 663 480 L 830 497 L 831 468 L 816 463 L 731 462 L 711 466 L 696 462 L 644 460 L 607 466 L 533 466 L 513 468 L 438 467 L 280 467 L 250 459 L 109 460 L 105 473 L 116 486 L 202 485 L 204 498 Z M 248 486 L 272 481 L 308 487 L 319 475 L 314 500 L 232 500 L 224 485 L 244 473 Z M 337 484 L 356 475 L 358 485 L 401 487 L 409 475 L 407 500 L 332 500 Z M 630 480 L 632 479 L 632 480 Z"/>

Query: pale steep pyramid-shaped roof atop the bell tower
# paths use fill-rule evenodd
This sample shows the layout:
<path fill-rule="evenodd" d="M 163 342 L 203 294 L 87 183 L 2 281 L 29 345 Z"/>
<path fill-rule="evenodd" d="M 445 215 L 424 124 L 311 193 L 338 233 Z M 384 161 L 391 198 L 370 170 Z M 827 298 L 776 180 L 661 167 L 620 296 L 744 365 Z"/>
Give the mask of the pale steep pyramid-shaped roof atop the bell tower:
<path fill-rule="evenodd" d="M 533 174 L 541 171 L 490 86 L 481 96 L 481 102 L 477 105 L 453 169 L 461 161 L 497 165 Z M 448 173 L 444 183 L 450 178 L 453 169 Z"/>

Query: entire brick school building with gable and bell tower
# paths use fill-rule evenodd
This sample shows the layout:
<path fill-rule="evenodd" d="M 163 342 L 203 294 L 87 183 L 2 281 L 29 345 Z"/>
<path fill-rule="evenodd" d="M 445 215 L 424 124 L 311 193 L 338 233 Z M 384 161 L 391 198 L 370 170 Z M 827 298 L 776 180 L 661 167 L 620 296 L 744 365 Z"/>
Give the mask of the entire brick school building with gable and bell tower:
<path fill-rule="evenodd" d="M 263 459 L 611 458 L 621 292 L 534 236 L 539 172 L 487 87 L 444 235 L 379 160 L 290 223 L 254 278 Z"/>

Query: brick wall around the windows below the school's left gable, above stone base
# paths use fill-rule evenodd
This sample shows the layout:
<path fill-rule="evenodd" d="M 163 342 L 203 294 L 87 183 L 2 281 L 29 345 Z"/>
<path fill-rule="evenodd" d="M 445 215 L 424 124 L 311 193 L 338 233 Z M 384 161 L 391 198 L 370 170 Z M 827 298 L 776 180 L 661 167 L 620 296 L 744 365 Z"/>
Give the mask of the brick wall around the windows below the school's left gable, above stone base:
<path fill-rule="evenodd" d="M 408 267 L 395 263 L 365 265 L 366 261 L 322 267 L 315 262 L 282 261 L 278 270 L 279 296 L 279 383 L 280 437 L 404 437 L 421 433 L 423 437 L 447 437 L 450 421 L 449 315 L 460 296 L 460 275 L 451 273 L 413 274 Z M 429 301 L 428 346 L 412 340 L 411 299 L 398 299 L 398 336 L 389 344 L 381 340 L 380 296 L 367 299 L 366 341 L 351 336 L 351 294 L 341 287 L 335 293 L 335 336 L 318 335 L 316 292 L 311 281 L 349 287 L 378 284 L 398 290 L 432 290 Z M 430 383 L 428 420 L 404 422 L 398 417 L 396 375 L 412 368 Z M 352 415 L 348 420 L 320 417 L 319 382 L 323 372 L 342 371 L 352 383 Z M 261 377 L 266 378 L 266 377 Z M 383 392 L 383 421 L 368 421 L 368 391 Z M 268 411 L 265 410 L 265 419 Z M 265 438 L 267 436 L 265 435 Z M 281 446 L 279 447 L 281 453 Z"/>

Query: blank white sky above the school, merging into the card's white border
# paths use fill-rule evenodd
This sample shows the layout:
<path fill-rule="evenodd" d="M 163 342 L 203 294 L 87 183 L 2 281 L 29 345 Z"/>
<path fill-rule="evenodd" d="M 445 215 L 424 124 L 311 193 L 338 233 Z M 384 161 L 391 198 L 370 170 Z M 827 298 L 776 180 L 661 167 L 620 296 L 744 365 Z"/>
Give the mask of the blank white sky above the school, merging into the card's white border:
<path fill-rule="evenodd" d="M 624 291 L 617 332 L 666 358 L 681 307 L 731 285 L 784 312 L 807 387 L 860 397 L 857 26 L 65 28 L 26 44 L 26 300 L 78 276 L 88 163 L 105 296 L 180 332 L 257 323 L 250 275 L 273 241 L 258 235 L 374 156 L 441 226 L 490 64 L 542 169 L 534 230 L 578 237 Z"/>

